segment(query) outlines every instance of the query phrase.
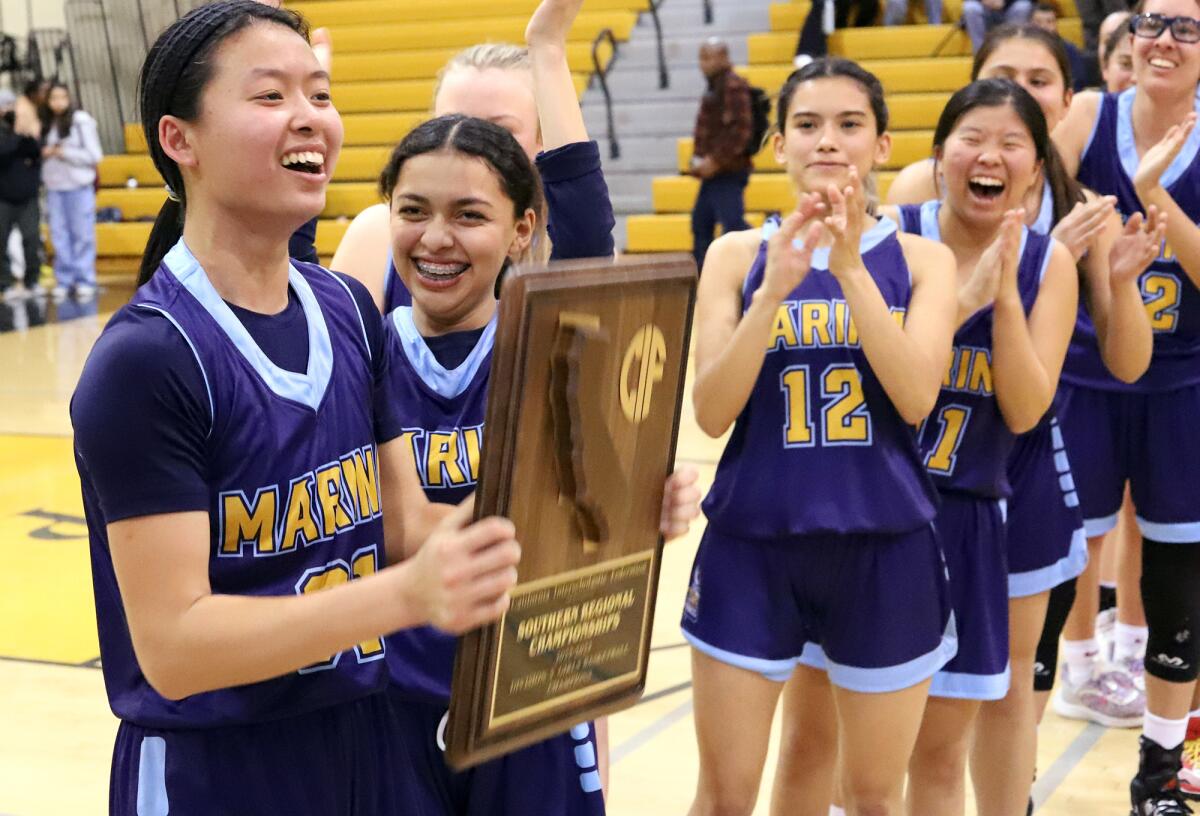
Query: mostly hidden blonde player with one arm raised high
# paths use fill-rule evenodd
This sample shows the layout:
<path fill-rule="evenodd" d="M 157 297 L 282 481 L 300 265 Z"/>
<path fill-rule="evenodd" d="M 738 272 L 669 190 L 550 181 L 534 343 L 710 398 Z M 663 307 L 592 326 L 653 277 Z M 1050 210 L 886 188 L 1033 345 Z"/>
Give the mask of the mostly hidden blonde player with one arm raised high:
<path fill-rule="evenodd" d="M 545 212 L 533 238 L 535 258 L 565 260 L 613 253 L 612 203 L 600 148 L 588 138 L 566 62 L 566 34 L 583 0 L 546 0 L 526 29 L 528 48 L 472 46 L 438 74 L 433 114 L 486 119 L 509 131 L 542 179 Z M 410 304 L 389 254 L 386 204 L 360 212 L 331 265 L 355 276 L 386 314 Z"/>

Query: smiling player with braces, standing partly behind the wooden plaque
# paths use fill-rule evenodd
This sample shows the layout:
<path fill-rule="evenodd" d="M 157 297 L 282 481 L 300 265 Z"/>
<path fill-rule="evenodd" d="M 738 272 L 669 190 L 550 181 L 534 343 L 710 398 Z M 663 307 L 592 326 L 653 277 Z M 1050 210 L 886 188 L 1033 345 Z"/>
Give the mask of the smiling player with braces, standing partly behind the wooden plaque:
<path fill-rule="evenodd" d="M 538 173 L 504 128 L 461 115 L 418 126 L 380 176 L 391 254 L 412 306 L 385 318 L 391 359 L 384 398 L 410 444 L 424 493 L 457 503 L 475 490 L 497 329 L 496 282 L 527 259 L 542 209 Z M 696 514 L 695 473 L 673 476 L 667 536 Z M 674 514 L 673 516 L 671 514 Z M 431 812 L 604 812 L 590 724 L 455 773 L 443 758 L 456 638 L 433 628 L 388 638 L 390 697 L 424 770 Z"/>

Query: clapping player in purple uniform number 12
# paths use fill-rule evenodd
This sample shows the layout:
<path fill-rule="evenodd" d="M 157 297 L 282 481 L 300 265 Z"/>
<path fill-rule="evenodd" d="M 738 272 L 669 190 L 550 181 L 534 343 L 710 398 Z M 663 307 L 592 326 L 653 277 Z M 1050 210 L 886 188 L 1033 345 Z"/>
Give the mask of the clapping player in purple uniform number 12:
<path fill-rule="evenodd" d="M 713 437 L 736 425 L 683 613 L 691 812 L 754 809 L 794 677 L 812 704 L 836 703 L 850 811 L 899 814 L 929 680 L 956 648 L 911 428 L 949 362 L 954 257 L 866 211 L 863 180 L 890 149 L 872 74 L 817 60 L 788 78 L 778 110 L 797 209 L 714 242 L 697 300 L 696 419 Z M 810 738 L 838 754 L 833 730 Z"/>

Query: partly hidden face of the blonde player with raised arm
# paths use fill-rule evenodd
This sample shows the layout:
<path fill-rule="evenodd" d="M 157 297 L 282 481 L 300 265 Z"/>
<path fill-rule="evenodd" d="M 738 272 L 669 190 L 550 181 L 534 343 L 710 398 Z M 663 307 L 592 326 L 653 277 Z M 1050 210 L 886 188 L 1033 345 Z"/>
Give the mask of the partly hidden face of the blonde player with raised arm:
<path fill-rule="evenodd" d="M 433 115 L 461 113 L 499 125 L 517 140 L 529 161 L 541 150 L 533 73 L 520 68 L 458 67 L 442 79 Z"/>

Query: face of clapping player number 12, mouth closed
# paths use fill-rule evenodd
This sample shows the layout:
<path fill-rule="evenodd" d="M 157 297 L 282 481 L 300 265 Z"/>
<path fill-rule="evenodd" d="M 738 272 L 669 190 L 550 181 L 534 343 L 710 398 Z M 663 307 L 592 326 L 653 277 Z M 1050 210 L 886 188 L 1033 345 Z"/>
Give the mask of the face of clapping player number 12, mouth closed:
<path fill-rule="evenodd" d="M 821 77 L 796 86 L 782 133 L 774 137 L 775 158 L 787 167 L 802 193 L 824 192 L 850 178 L 866 179 L 888 160 L 892 139 L 877 134 L 863 86 L 847 77 Z"/>

